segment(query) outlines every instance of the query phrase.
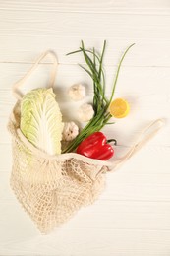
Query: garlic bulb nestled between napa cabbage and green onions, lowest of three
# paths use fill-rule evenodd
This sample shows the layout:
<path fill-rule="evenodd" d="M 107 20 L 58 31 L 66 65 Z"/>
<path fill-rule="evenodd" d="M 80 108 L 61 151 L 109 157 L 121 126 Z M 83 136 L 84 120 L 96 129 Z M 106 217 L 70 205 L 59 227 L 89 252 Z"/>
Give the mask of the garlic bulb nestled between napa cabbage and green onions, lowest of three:
<path fill-rule="evenodd" d="M 64 123 L 63 141 L 72 141 L 79 134 L 79 127 L 74 122 Z"/>

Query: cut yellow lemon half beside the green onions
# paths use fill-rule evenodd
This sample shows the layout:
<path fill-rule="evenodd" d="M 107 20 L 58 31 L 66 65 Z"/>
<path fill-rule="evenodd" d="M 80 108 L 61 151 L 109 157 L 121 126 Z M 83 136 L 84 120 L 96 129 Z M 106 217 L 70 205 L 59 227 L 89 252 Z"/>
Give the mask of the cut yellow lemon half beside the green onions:
<path fill-rule="evenodd" d="M 126 117 L 130 111 L 129 103 L 123 98 L 116 98 L 109 106 L 109 111 L 115 118 Z"/>

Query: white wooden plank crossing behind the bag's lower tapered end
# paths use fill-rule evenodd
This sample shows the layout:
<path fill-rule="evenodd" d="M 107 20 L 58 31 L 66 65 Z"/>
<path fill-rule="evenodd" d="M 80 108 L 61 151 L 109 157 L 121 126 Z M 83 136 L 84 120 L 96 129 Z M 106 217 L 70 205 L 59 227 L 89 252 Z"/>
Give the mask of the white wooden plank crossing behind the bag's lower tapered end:
<path fill-rule="evenodd" d="M 9 221 L 23 216 L 24 221 L 30 223 L 28 214 L 14 199 L 10 203 L 0 202 L 0 225 L 5 229 Z M 10 209 L 13 209 L 11 216 Z M 20 215 L 18 215 L 18 213 Z M 6 213 L 6 215 L 5 215 Z M 82 208 L 68 223 L 69 228 L 82 229 L 141 229 L 141 230 L 170 230 L 170 202 L 120 202 L 120 201 L 96 201 L 92 206 Z M 22 224 L 21 220 L 21 224 Z M 14 224 L 16 225 L 16 224 Z M 31 224 L 33 225 L 33 224 Z M 2 231 L 0 236 L 2 235 Z"/>

